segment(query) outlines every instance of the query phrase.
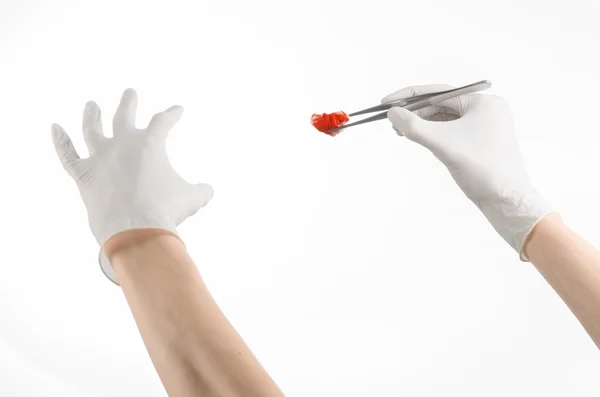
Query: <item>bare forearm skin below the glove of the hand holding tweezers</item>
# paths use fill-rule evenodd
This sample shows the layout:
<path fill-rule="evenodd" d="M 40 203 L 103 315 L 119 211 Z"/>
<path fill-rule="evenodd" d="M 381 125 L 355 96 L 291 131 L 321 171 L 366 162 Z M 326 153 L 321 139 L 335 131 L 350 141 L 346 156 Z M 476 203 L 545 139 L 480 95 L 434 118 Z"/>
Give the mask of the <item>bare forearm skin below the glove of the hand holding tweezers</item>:
<path fill-rule="evenodd" d="M 600 252 L 548 215 L 533 229 L 525 254 L 600 348 Z"/>

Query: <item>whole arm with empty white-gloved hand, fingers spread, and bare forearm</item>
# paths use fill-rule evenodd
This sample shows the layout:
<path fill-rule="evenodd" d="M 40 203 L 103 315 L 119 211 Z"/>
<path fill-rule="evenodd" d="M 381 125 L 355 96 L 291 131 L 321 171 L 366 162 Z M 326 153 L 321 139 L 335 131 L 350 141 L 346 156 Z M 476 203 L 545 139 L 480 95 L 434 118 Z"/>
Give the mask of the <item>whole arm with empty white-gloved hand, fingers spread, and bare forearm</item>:
<path fill-rule="evenodd" d="M 213 195 L 209 185 L 186 182 L 168 159 L 167 135 L 183 109 L 173 106 L 140 129 L 136 107 L 137 94 L 126 90 L 108 138 L 98 105 L 88 102 L 83 117 L 88 158 L 77 154 L 60 126 L 52 126 L 55 150 L 77 184 L 100 251 L 115 261 L 115 266 L 101 263 L 103 271 L 115 284 L 123 283 L 171 396 L 203 391 L 211 397 L 252 396 L 259 390 L 277 395 L 212 301 L 178 238 L 177 226 Z M 232 359 L 234 352 L 241 355 Z"/>

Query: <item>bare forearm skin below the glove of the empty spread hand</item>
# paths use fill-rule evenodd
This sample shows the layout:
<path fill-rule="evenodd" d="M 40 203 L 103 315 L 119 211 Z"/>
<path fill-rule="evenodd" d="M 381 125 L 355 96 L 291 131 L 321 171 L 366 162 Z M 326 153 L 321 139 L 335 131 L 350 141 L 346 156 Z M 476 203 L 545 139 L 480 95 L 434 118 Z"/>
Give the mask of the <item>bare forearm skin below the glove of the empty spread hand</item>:
<path fill-rule="evenodd" d="M 211 297 L 181 240 L 160 229 L 130 230 L 104 251 L 169 396 L 283 396 Z"/>

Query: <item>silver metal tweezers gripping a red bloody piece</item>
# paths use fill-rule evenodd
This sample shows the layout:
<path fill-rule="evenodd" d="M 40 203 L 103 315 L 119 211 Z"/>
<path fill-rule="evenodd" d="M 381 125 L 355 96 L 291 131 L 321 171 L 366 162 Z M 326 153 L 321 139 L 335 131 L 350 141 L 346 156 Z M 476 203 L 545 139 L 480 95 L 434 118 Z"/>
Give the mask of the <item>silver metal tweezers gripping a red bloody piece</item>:
<path fill-rule="evenodd" d="M 383 120 L 387 118 L 387 111 L 395 106 L 401 106 L 407 110 L 415 111 L 419 109 L 426 108 L 428 106 L 433 106 L 437 103 L 446 101 L 448 99 L 455 98 L 461 95 L 472 94 L 474 92 L 487 90 L 492 86 L 492 83 L 489 80 L 481 80 L 477 83 L 469 84 L 464 87 L 453 88 L 451 90 L 433 92 L 430 94 L 416 95 L 408 98 L 398 99 L 392 102 L 384 103 L 382 105 L 377 105 L 370 107 L 368 109 L 359 110 L 354 113 L 350 113 L 348 117 L 358 116 L 361 114 L 373 113 L 383 110 L 383 112 L 378 113 L 374 116 L 367 117 L 366 119 L 362 119 L 359 121 L 354 121 L 348 124 L 340 125 L 339 127 L 332 128 L 330 132 L 346 129 L 348 127 L 354 127 L 355 125 L 370 123 L 372 121 Z"/>

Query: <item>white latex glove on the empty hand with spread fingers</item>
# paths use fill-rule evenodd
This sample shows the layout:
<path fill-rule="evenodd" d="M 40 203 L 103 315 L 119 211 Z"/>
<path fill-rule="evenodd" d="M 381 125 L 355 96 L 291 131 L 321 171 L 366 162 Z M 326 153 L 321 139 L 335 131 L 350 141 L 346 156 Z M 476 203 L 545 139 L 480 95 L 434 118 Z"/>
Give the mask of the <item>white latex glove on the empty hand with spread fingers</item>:
<path fill-rule="evenodd" d="M 88 102 L 83 135 L 90 156 L 85 159 L 79 157 L 62 127 L 52 125 L 54 147 L 77 183 L 90 228 L 100 245 L 102 271 L 117 285 L 103 250 L 111 237 L 148 228 L 177 236 L 176 227 L 213 196 L 210 185 L 183 180 L 167 157 L 167 135 L 181 118 L 183 108 L 173 106 L 156 114 L 145 129 L 135 127 L 136 108 L 137 94 L 125 90 L 113 118 L 113 137 L 107 138 L 102 132 L 100 108 Z"/>

